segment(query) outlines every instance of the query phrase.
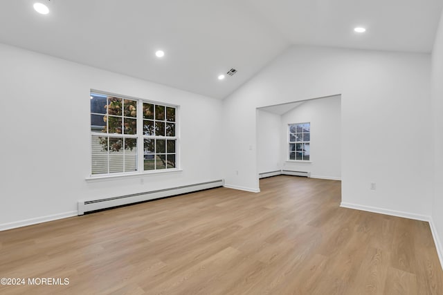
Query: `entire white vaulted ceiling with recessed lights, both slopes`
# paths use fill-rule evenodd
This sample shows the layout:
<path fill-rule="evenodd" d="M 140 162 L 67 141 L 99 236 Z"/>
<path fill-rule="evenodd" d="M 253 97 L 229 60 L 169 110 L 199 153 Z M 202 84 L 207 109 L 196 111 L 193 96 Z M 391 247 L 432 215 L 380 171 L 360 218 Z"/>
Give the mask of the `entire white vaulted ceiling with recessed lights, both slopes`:
<path fill-rule="evenodd" d="M 443 6 L 443 0 L 51 0 L 51 13 L 39 15 L 35 1 L 1 1 L 1 43 L 217 98 L 293 44 L 428 53 Z M 368 32 L 356 35 L 354 26 Z M 166 53 L 161 60 L 154 55 L 159 48 Z M 230 68 L 238 73 L 217 80 Z"/>

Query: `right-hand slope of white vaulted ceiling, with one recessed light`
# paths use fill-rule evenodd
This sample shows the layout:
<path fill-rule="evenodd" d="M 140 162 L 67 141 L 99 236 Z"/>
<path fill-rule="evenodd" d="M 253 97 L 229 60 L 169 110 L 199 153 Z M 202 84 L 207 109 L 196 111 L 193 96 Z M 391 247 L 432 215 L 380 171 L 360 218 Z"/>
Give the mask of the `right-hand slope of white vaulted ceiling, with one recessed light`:
<path fill-rule="evenodd" d="M 431 52 L 443 7 L 442 0 L 246 1 L 292 44 L 420 53 Z"/>

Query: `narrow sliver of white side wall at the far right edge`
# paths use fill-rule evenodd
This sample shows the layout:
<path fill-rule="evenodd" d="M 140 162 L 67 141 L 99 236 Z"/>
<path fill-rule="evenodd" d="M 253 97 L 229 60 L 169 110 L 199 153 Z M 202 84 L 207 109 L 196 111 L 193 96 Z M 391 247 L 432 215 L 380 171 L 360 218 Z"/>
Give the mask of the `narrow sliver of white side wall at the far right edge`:
<path fill-rule="evenodd" d="M 432 102 L 435 139 L 433 234 L 443 264 L 443 12 L 432 54 Z"/>

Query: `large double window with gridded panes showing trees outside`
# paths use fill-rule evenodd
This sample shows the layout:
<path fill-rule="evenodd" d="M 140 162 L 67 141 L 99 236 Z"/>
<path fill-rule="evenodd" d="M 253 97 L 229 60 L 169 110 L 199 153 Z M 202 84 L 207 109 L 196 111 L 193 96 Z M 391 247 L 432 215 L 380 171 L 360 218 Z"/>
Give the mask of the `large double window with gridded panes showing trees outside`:
<path fill-rule="evenodd" d="M 91 173 L 175 169 L 176 112 L 175 106 L 91 92 Z"/>

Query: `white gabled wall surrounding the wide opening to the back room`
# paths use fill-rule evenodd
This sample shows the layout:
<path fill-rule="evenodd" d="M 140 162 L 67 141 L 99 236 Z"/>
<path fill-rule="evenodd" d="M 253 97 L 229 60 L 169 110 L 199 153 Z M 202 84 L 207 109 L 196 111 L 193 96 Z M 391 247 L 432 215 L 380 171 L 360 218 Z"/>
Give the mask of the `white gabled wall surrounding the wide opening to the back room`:
<path fill-rule="evenodd" d="M 255 108 L 341 94 L 342 201 L 415 218 L 431 215 L 430 73 L 426 54 L 290 48 L 224 99 L 226 184 L 258 189 Z"/>

